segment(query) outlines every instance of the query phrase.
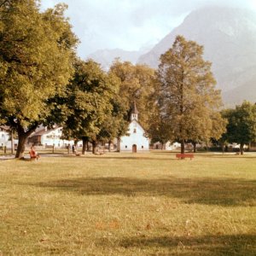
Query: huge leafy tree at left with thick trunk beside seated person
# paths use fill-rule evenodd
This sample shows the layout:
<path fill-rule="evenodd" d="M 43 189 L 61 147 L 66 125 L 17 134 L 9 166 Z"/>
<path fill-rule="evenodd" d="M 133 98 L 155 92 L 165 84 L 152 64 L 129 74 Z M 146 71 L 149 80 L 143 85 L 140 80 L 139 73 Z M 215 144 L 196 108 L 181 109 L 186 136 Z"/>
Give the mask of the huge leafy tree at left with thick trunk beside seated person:
<path fill-rule="evenodd" d="M 17 158 L 26 138 L 49 117 L 49 99 L 73 74 L 78 40 L 66 8 L 59 4 L 41 13 L 37 0 L 0 4 L 0 119 L 18 133 Z"/>

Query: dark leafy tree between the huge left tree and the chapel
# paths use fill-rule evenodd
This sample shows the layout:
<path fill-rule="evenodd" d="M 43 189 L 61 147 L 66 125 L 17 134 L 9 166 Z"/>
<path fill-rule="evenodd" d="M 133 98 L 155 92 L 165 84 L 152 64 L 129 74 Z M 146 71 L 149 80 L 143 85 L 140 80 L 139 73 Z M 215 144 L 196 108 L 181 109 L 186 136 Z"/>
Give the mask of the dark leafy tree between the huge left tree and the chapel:
<path fill-rule="evenodd" d="M 64 136 L 89 141 L 95 153 L 98 135 L 102 125 L 111 116 L 111 101 L 118 90 L 118 81 L 102 71 L 98 63 L 92 60 L 77 60 L 75 73 L 67 85 L 67 119 L 62 124 Z"/>

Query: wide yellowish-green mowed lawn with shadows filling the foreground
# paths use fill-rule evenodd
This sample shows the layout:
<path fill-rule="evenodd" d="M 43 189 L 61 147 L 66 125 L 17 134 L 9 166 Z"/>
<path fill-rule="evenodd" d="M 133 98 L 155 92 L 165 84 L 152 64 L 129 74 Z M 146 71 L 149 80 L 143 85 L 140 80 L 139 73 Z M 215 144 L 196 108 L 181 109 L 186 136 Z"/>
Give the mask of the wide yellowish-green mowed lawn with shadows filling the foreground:
<path fill-rule="evenodd" d="M 256 154 L 0 161 L 0 255 L 256 255 Z"/>

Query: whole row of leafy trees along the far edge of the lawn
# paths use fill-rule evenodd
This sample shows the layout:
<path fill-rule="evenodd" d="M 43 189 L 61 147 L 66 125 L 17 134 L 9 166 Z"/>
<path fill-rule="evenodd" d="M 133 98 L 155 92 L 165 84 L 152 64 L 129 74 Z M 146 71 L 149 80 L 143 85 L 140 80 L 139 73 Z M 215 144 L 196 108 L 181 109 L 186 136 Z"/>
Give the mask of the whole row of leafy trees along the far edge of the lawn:
<path fill-rule="evenodd" d="M 64 137 L 83 141 L 83 152 L 89 142 L 93 150 L 97 142 L 111 143 L 127 133 L 134 101 L 152 142 L 180 142 L 182 153 L 188 142 L 242 146 L 255 139 L 255 105 L 220 111 L 202 46 L 177 36 L 157 70 L 117 59 L 105 72 L 76 55 L 67 5 L 39 7 L 37 0 L 0 1 L 0 122 L 18 134 L 16 158 L 38 125 L 61 125 Z"/>

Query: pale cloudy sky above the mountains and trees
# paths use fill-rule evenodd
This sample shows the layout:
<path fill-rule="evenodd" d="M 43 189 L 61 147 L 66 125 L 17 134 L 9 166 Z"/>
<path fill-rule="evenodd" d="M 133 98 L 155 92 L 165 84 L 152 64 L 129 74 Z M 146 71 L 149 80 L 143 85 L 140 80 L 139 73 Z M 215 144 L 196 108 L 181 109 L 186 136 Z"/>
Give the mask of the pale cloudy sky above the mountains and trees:
<path fill-rule="evenodd" d="M 67 3 L 67 17 L 86 59 L 98 49 L 150 49 L 194 9 L 208 5 L 256 11 L 256 0 L 41 0 L 41 8 Z"/>

